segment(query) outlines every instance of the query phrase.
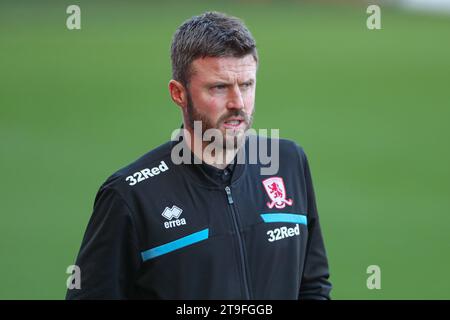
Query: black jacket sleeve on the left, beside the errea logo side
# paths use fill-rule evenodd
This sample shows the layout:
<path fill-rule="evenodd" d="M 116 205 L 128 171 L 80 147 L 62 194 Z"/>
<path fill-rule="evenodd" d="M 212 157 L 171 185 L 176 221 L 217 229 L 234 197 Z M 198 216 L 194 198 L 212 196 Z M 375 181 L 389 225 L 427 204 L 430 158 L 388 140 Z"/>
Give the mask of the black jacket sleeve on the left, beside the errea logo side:
<path fill-rule="evenodd" d="M 130 209 L 113 189 L 101 188 L 75 263 L 80 289 L 66 299 L 128 299 L 133 297 L 140 254 Z"/>

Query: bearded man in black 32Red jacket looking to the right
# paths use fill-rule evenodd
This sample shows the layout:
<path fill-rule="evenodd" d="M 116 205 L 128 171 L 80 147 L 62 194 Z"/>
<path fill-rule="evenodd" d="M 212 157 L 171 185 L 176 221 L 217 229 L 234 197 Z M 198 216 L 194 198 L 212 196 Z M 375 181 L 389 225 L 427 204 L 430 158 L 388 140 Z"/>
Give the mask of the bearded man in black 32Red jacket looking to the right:
<path fill-rule="evenodd" d="M 252 35 L 237 18 L 207 12 L 178 28 L 171 58 L 183 132 L 102 185 L 76 262 L 81 289 L 67 298 L 329 299 L 303 150 L 273 140 L 271 175 L 248 161 Z"/>

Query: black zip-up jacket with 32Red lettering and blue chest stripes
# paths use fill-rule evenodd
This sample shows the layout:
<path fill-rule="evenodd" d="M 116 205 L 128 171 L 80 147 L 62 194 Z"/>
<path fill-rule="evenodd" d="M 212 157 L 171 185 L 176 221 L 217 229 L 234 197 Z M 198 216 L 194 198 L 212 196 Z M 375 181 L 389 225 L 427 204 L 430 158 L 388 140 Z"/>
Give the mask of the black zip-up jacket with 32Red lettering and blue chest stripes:
<path fill-rule="evenodd" d="M 246 161 L 220 177 L 174 164 L 174 145 L 101 186 L 76 261 L 81 289 L 67 299 L 329 299 L 302 148 L 280 140 L 276 175 Z"/>

